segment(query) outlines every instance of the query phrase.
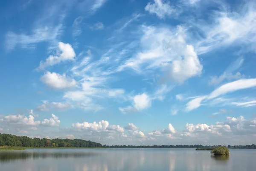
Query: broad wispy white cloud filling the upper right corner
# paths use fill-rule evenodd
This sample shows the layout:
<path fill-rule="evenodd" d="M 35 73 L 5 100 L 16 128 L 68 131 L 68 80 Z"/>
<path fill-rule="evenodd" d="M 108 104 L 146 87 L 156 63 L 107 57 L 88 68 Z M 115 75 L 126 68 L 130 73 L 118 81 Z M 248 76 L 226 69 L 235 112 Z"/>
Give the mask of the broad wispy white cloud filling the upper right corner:
<path fill-rule="evenodd" d="M 204 32 L 205 37 L 197 44 L 198 53 L 209 52 L 230 44 L 255 46 L 256 43 L 256 10 L 255 4 L 240 4 L 240 10 L 230 12 L 230 6 L 222 4 L 221 11 L 212 14 L 212 24 L 191 23 Z M 192 21 L 194 22 L 194 20 Z M 207 21 L 209 23 L 209 21 Z"/>

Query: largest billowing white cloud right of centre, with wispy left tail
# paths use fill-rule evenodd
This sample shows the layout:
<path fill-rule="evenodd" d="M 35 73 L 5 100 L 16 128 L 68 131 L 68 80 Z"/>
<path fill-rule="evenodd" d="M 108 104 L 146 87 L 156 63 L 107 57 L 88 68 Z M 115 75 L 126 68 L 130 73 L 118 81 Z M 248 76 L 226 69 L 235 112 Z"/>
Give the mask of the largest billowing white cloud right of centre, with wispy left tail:
<path fill-rule="evenodd" d="M 158 68 L 165 73 L 160 80 L 182 84 L 186 79 L 200 76 L 202 65 L 192 45 L 186 44 L 186 29 L 142 26 L 141 50 L 119 66 L 118 71 L 132 68 L 145 74 Z"/>

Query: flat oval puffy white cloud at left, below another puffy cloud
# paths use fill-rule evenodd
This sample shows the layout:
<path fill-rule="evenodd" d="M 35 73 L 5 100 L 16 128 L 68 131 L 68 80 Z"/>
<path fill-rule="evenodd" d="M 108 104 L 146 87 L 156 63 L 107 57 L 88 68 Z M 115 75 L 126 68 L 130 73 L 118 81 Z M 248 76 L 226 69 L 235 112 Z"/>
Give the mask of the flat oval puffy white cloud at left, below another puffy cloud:
<path fill-rule="evenodd" d="M 60 75 L 55 72 L 46 72 L 41 76 L 40 80 L 47 86 L 55 89 L 66 89 L 76 87 L 77 82 L 73 78 L 67 77 L 65 74 Z"/>

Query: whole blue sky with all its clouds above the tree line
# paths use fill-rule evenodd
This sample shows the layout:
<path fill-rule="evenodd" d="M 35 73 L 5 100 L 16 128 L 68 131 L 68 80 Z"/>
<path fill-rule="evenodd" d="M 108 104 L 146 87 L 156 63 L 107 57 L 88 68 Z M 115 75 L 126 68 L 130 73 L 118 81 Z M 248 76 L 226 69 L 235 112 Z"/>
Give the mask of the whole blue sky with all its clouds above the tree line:
<path fill-rule="evenodd" d="M 253 0 L 0 8 L 1 133 L 107 145 L 256 141 Z"/>

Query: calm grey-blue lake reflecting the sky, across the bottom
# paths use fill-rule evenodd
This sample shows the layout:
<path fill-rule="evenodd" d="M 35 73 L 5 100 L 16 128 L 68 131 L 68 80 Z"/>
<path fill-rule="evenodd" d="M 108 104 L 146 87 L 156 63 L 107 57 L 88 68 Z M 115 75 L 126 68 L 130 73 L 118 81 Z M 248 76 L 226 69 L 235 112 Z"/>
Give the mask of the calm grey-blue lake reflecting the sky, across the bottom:
<path fill-rule="evenodd" d="M 0 171 L 253 171 L 256 149 L 212 157 L 195 149 L 28 149 L 0 151 Z"/>

